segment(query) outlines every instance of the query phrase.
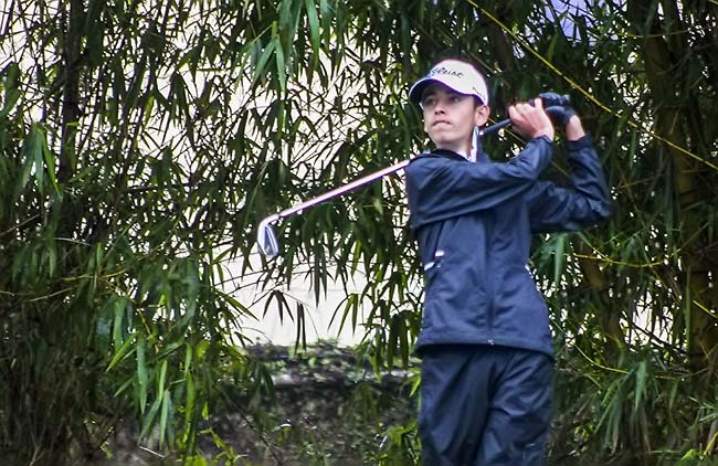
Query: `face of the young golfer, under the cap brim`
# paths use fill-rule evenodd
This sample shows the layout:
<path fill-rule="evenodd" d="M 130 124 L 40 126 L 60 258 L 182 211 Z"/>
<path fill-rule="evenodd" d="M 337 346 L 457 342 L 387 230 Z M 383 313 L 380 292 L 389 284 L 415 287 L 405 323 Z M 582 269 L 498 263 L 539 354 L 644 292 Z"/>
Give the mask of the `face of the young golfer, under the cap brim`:
<path fill-rule="evenodd" d="M 488 119 L 489 109 L 476 105 L 473 96 L 458 94 L 440 83 L 426 86 L 421 99 L 424 130 L 441 149 L 468 153 L 474 126 Z"/>

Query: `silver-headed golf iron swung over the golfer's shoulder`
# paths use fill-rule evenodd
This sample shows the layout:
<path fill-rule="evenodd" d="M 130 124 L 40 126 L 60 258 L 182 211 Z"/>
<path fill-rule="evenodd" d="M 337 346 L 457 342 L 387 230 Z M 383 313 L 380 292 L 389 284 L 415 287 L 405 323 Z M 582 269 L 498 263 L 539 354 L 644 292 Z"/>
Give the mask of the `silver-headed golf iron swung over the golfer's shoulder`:
<path fill-rule="evenodd" d="M 551 106 L 546 108 L 546 113 L 551 115 L 552 113 L 558 113 L 558 112 L 563 112 L 563 106 L 569 105 L 569 97 L 568 96 L 560 96 L 562 98 L 561 105 L 560 106 Z M 563 100 L 564 99 L 564 100 Z M 486 128 L 482 129 L 478 131 L 478 137 L 483 137 L 485 135 L 490 135 L 493 133 L 498 131 L 499 129 L 503 129 L 507 127 L 508 125 L 511 124 L 511 120 L 509 118 L 504 119 L 501 121 L 498 121 L 494 125 L 487 126 Z M 339 188 L 335 188 L 328 192 L 325 192 L 324 194 L 317 195 L 316 198 L 309 199 L 308 201 L 300 202 L 298 204 L 295 204 L 288 209 L 285 209 L 281 212 L 277 212 L 275 214 L 272 214 L 264 220 L 260 222 L 260 225 L 257 227 L 256 232 L 256 241 L 257 241 L 257 246 L 260 247 L 260 252 L 267 258 L 273 258 L 279 253 L 279 240 L 276 235 L 276 232 L 274 231 L 274 224 L 281 220 L 287 219 L 292 215 L 295 215 L 297 213 L 300 213 L 302 211 L 313 208 L 317 204 L 320 204 L 323 202 L 326 202 L 330 199 L 337 198 L 341 194 L 345 194 L 347 192 L 353 191 L 357 188 L 361 188 L 366 184 L 369 184 L 380 178 L 386 177 L 387 174 L 392 174 L 398 172 L 399 170 L 404 169 L 411 160 L 403 160 L 398 163 L 392 165 L 391 167 L 387 167 L 384 169 L 381 169 L 379 171 L 376 171 L 373 173 L 367 174 L 366 177 L 361 177 L 355 181 L 351 181 L 347 184 L 340 186 Z"/>

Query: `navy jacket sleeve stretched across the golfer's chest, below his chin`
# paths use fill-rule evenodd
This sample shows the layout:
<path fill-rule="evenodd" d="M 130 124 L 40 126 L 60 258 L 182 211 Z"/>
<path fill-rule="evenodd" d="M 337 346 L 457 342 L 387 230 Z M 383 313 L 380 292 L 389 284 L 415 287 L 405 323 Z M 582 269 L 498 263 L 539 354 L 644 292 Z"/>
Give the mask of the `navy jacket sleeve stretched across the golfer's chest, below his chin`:
<path fill-rule="evenodd" d="M 490 209 L 525 194 L 551 161 L 553 142 L 528 141 L 505 163 L 471 163 L 443 157 L 419 157 L 406 167 L 412 227 Z"/>

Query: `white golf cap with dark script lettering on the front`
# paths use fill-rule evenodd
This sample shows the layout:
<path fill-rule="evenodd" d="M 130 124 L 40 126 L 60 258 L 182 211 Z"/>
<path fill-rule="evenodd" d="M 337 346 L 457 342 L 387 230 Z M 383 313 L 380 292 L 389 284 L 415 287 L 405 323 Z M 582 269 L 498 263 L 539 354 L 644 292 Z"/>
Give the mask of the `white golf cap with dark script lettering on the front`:
<path fill-rule="evenodd" d="M 416 81 L 409 89 L 409 99 L 421 104 L 421 97 L 431 83 L 441 83 L 460 94 L 475 95 L 483 104 L 488 104 L 486 78 L 471 64 L 460 60 L 444 60 L 434 65 L 426 76 Z"/>

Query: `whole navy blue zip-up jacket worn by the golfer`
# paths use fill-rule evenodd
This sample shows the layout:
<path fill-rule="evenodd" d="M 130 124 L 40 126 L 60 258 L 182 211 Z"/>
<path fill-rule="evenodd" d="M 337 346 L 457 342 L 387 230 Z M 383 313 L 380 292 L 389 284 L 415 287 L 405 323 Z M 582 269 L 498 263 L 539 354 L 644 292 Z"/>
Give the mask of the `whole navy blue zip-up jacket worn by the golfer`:
<path fill-rule="evenodd" d="M 547 137 L 505 163 L 437 149 L 406 167 L 425 273 L 420 354 L 426 345 L 479 343 L 552 356 L 548 309 L 528 268 L 531 233 L 576 231 L 611 213 L 591 138 L 568 150 L 570 188 L 539 180 L 553 151 Z"/>

